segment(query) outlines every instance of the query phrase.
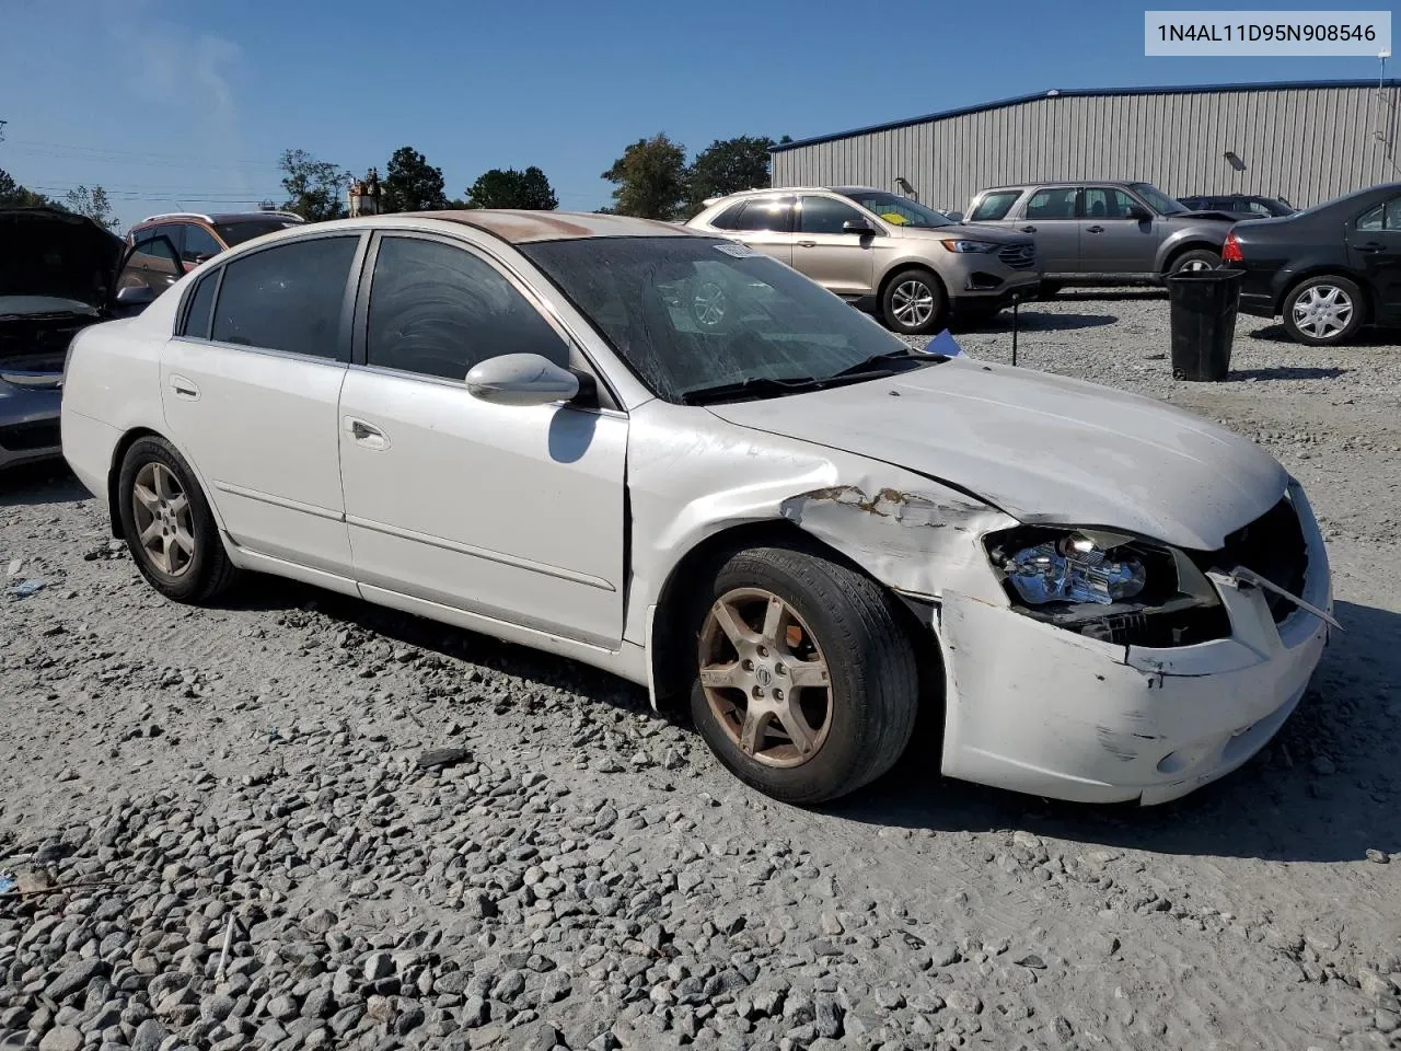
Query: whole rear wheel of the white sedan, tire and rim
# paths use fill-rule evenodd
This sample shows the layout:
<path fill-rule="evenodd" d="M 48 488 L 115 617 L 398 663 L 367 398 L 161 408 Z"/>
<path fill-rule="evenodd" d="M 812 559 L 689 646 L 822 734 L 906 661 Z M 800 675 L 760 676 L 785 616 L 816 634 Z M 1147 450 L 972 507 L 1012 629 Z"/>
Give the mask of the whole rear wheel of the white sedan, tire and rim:
<path fill-rule="evenodd" d="M 167 598 L 202 603 L 233 583 L 235 570 L 205 493 L 168 441 L 132 443 L 116 495 L 126 547 L 151 587 Z"/>

